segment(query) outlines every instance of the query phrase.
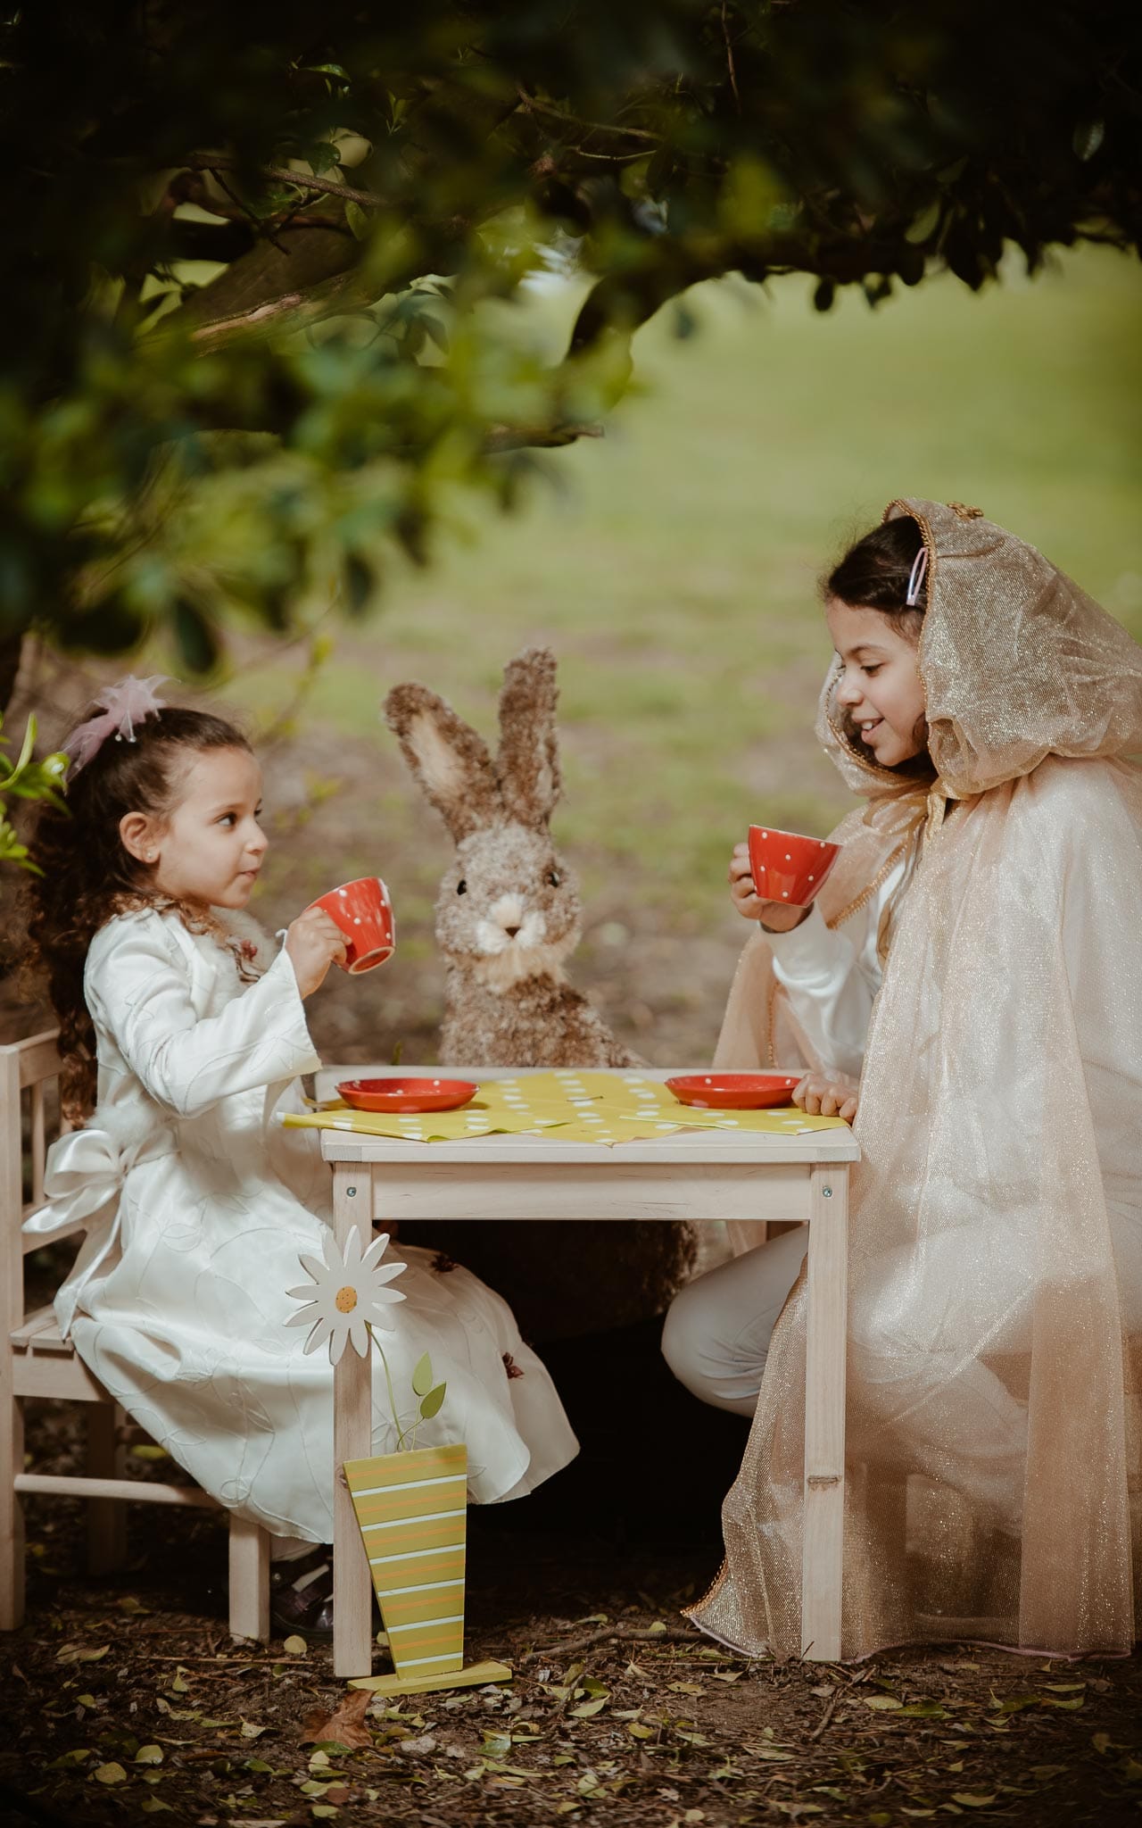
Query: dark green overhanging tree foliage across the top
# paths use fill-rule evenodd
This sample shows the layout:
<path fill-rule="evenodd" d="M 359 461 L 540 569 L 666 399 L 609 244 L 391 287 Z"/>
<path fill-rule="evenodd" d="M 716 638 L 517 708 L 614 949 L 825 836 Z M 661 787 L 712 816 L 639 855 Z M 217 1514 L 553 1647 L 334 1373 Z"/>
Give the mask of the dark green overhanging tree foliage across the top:
<path fill-rule="evenodd" d="M 1105 0 L 0 0 L 0 643 L 159 629 L 208 673 L 232 614 L 364 614 L 387 552 L 597 430 L 698 280 L 828 311 L 1138 250 L 1140 35 Z M 594 280 L 555 366 L 488 309 L 550 267 Z"/>

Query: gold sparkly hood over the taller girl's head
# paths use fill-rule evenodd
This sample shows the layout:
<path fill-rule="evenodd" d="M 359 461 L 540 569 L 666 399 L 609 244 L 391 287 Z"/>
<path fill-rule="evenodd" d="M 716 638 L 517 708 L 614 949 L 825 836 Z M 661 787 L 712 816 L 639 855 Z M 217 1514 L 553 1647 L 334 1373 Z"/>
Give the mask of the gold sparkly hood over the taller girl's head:
<path fill-rule="evenodd" d="M 1113 616 L 979 508 L 906 499 L 884 510 L 886 521 L 901 515 L 928 548 L 919 673 L 946 799 L 1029 775 L 1047 755 L 1142 751 L 1142 649 Z M 846 784 L 872 797 L 915 792 L 844 737 L 839 682 L 833 664 L 817 735 Z"/>

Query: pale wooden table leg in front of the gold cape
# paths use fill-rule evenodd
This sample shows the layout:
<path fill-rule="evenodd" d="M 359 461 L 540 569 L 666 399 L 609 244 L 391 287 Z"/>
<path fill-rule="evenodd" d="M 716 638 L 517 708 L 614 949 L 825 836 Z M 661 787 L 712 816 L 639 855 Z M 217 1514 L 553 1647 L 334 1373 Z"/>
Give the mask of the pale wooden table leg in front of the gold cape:
<path fill-rule="evenodd" d="M 800 1645 L 813 1662 L 835 1662 L 844 1548 L 846 1164 L 809 1170 L 808 1302 Z"/>

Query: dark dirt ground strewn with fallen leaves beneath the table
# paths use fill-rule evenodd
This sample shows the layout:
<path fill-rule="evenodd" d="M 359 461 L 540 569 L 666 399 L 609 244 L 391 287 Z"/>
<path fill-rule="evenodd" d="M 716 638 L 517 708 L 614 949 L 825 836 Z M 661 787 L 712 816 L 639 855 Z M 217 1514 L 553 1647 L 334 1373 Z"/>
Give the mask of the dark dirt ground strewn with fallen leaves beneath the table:
<path fill-rule="evenodd" d="M 599 1537 L 532 1503 L 470 1514 L 466 1654 L 506 1660 L 512 1684 L 400 1706 L 354 1706 L 323 1647 L 228 1636 L 216 1519 L 135 1510 L 126 1572 L 93 1581 L 69 1503 L 40 1503 L 29 1618 L 4 1651 L 4 1821 L 1137 1821 L 1137 1658 L 744 1662 L 678 1612 L 716 1543 Z"/>

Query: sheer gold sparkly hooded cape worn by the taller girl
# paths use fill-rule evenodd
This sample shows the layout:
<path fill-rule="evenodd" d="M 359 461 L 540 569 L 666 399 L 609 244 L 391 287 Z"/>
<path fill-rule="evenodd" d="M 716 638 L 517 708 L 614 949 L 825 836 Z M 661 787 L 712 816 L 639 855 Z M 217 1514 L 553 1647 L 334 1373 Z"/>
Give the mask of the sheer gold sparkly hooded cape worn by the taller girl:
<path fill-rule="evenodd" d="M 851 1174 L 842 1656 L 981 1640 L 1127 1653 L 1142 1574 L 1142 649 L 979 510 L 926 552 L 934 782 L 817 731 L 868 801 L 822 910 L 915 846 Z M 808 1058 L 758 932 L 718 1062 Z M 740 1239 L 749 1243 L 751 1239 Z M 689 1616 L 800 1654 L 804 1270 L 773 1333 L 725 1563 Z"/>

